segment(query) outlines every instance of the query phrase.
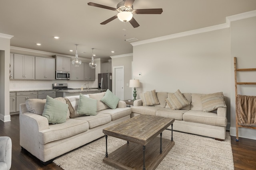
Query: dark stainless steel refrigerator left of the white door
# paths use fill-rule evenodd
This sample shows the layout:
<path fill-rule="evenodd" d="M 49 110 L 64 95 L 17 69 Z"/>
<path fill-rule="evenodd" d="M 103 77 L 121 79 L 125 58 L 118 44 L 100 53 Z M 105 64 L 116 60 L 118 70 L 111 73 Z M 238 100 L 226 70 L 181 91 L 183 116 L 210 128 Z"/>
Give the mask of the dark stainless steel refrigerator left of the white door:
<path fill-rule="evenodd" d="M 112 92 L 112 73 L 100 73 L 98 74 L 98 88 L 109 89 Z"/>

